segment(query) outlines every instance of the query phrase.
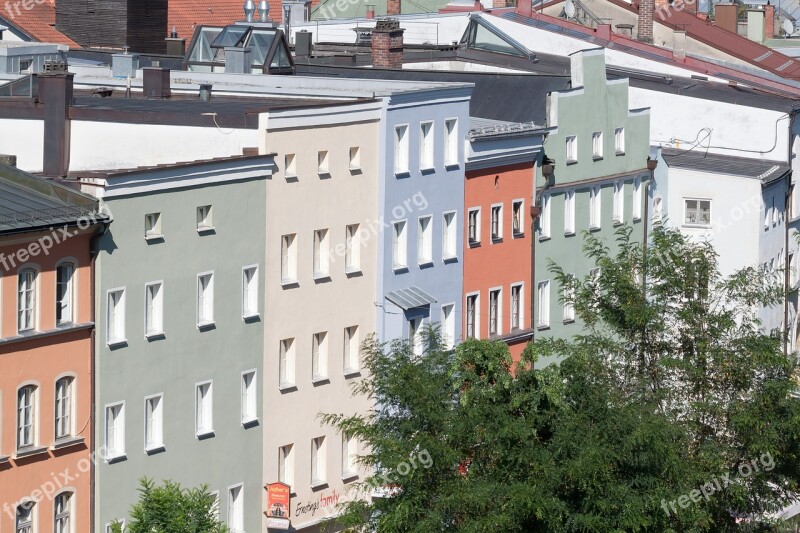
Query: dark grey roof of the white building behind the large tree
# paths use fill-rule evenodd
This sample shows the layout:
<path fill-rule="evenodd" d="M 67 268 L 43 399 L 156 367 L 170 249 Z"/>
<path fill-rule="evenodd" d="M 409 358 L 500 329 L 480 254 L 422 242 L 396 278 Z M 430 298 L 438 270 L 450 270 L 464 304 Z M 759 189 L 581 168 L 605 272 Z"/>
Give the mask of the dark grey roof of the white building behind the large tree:
<path fill-rule="evenodd" d="M 790 170 L 785 161 L 713 154 L 698 149 L 662 148 L 661 156 L 670 167 L 756 178 L 764 183 L 770 183 L 784 176 Z"/>

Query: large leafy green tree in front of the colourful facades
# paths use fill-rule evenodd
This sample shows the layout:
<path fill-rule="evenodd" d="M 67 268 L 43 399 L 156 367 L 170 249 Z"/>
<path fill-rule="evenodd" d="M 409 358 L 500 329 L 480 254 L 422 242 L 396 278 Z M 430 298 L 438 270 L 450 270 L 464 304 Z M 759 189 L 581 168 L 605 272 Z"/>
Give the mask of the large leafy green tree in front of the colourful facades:
<path fill-rule="evenodd" d="M 537 339 L 519 364 L 502 342 L 448 351 L 435 329 L 419 356 L 365 344 L 354 392 L 376 407 L 322 416 L 370 450 L 340 525 L 736 531 L 794 498 L 796 365 L 757 318 L 781 291 L 755 269 L 723 278 L 713 249 L 677 231 L 645 248 L 623 227 L 613 244 L 586 236 L 596 278 L 552 266 L 583 329 Z"/>

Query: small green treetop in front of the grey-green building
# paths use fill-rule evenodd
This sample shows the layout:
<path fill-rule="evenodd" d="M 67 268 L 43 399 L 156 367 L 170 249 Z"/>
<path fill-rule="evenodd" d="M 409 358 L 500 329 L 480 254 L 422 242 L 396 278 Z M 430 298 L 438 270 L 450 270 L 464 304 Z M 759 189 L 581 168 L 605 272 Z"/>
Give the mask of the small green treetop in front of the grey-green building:
<path fill-rule="evenodd" d="M 184 489 L 173 481 L 157 486 L 147 478 L 139 484 L 139 502 L 131 508 L 125 533 L 228 533 L 216 518 L 218 502 L 207 486 Z M 112 531 L 122 533 L 121 524 Z"/>

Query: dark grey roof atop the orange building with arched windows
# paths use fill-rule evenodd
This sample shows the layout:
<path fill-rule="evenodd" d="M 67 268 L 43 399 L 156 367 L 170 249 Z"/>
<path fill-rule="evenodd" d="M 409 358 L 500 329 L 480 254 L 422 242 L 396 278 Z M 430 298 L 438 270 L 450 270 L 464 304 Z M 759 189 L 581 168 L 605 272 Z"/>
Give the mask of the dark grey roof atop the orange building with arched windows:
<path fill-rule="evenodd" d="M 107 218 L 95 198 L 0 163 L 0 234 L 75 223 L 89 215 Z"/>

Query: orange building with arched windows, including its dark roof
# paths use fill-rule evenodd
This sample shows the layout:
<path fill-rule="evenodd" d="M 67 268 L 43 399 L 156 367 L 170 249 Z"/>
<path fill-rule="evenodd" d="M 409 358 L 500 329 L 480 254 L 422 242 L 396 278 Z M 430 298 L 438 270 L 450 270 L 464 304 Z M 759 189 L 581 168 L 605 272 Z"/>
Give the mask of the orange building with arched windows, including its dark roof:
<path fill-rule="evenodd" d="M 91 243 L 105 218 L 88 197 L 21 174 L 0 167 L 0 194 L 25 205 L 9 213 L 0 197 L 0 531 L 88 532 Z"/>

